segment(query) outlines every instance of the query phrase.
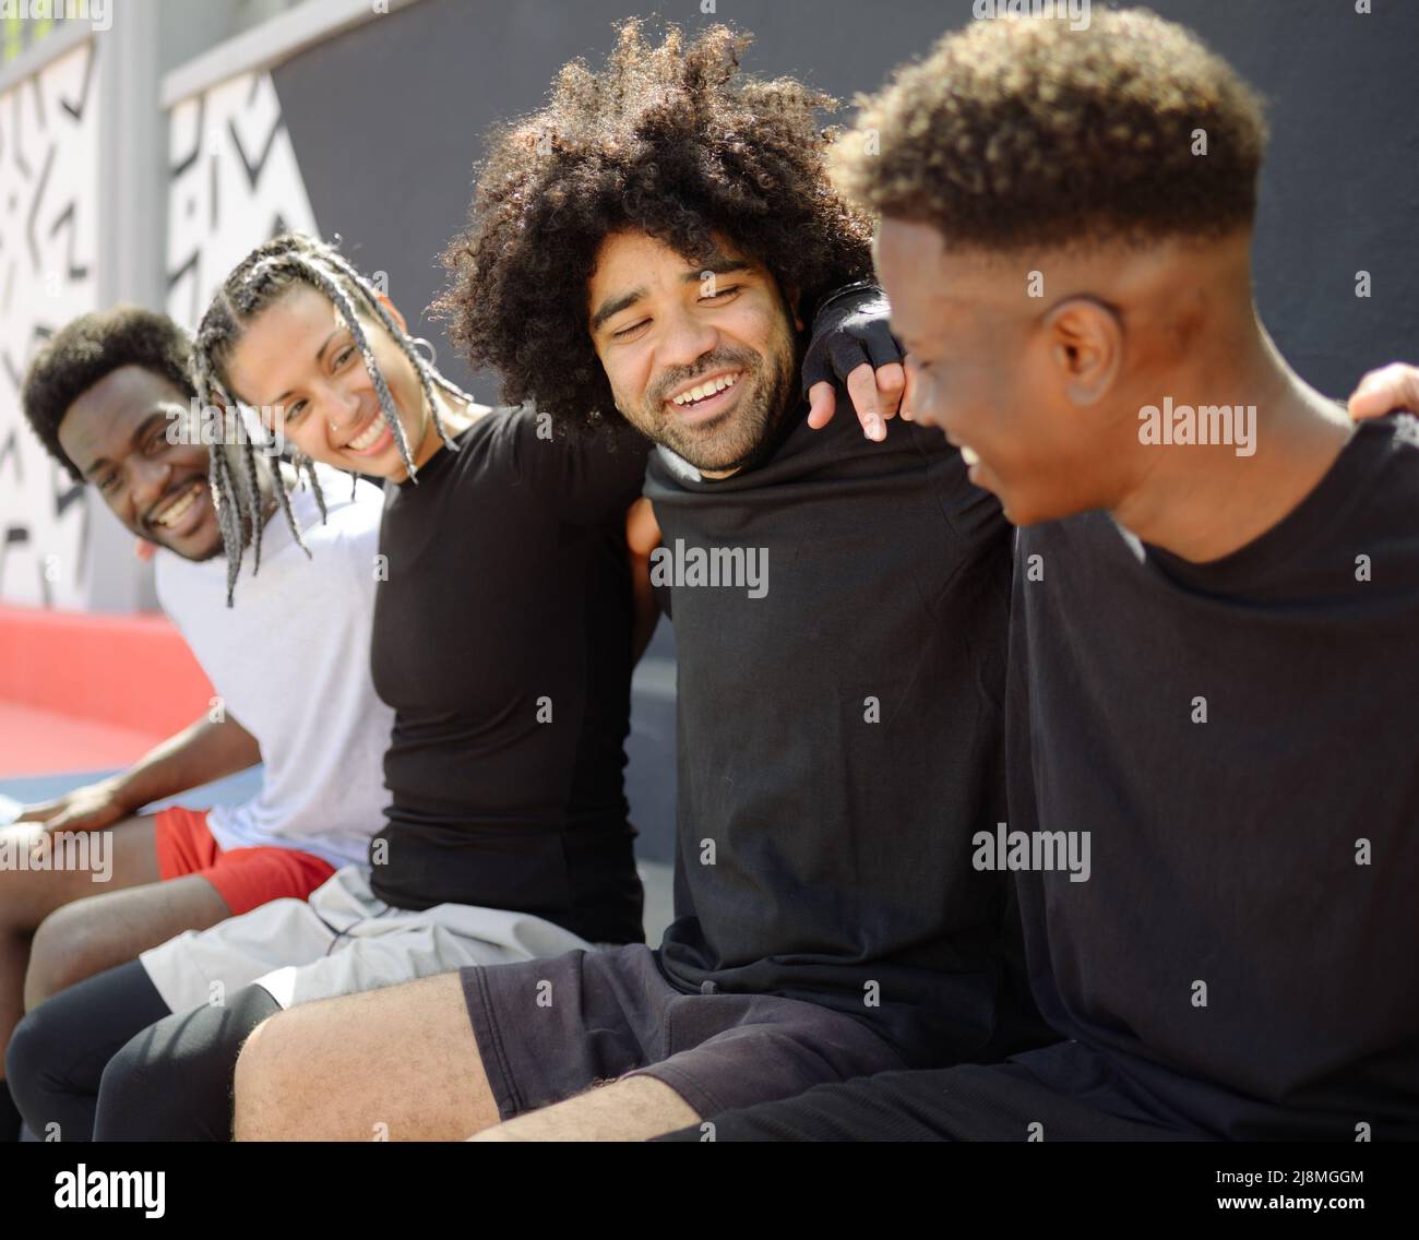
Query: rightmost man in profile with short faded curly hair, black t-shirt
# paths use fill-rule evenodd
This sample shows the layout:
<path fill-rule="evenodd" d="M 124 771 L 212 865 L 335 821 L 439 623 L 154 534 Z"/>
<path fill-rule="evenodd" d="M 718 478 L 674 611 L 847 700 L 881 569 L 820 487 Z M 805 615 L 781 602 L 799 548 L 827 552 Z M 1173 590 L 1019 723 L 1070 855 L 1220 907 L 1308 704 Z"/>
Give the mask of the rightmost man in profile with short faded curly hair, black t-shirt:
<path fill-rule="evenodd" d="M 1016 874 L 1061 1041 L 718 1139 L 1419 1136 L 1419 420 L 1352 424 L 1259 321 L 1256 96 L 1095 13 L 951 34 L 860 125 L 915 414 L 1023 526 L 1009 829 L 1093 864 Z"/>

